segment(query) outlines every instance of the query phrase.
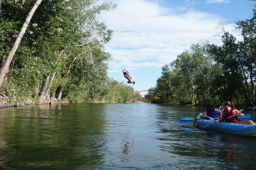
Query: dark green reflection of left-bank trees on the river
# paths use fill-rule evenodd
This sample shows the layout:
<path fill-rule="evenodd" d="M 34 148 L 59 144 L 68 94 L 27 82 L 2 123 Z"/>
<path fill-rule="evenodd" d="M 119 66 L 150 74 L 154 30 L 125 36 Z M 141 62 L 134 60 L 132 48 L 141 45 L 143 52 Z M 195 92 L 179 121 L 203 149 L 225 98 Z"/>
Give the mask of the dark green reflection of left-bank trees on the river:
<path fill-rule="evenodd" d="M 13 167 L 15 162 L 15 167 L 22 169 L 75 168 L 84 165 L 78 160 L 94 165 L 104 157 L 104 115 L 96 108 L 36 105 L 12 108 L 11 114 L 1 113 L 1 116 L 0 139 L 4 144 L 0 152 L 5 160 L 2 166 Z"/>

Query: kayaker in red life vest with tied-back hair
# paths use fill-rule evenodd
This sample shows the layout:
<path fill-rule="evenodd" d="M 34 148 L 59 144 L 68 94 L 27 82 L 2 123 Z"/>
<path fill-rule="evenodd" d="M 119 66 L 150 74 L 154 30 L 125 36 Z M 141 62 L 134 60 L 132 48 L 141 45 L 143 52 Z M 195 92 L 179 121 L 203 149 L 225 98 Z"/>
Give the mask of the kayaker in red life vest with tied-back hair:
<path fill-rule="evenodd" d="M 255 125 L 255 123 L 252 120 L 248 121 L 240 121 L 238 116 L 244 116 L 244 113 L 241 113 L 237 109 L 235 109 L 235 106 L 230 101 L 224 101 L 223 102 L 224 111 L 222 111 L 222 118 L 225 119 L 226 117 L 230 117 L 232 115 L 236 115 L 234 117 L 231 117 L 229 119 L 225 119 L 227 123 L 241 123 L 245 125 Z"/>

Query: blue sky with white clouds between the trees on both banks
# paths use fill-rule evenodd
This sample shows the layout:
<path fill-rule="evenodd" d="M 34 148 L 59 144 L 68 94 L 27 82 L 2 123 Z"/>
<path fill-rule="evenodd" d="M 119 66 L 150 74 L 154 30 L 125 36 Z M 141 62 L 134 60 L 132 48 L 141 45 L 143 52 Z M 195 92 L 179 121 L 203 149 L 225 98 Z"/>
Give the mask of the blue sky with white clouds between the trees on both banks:
<path fill-rule="evenodd" d="M 237 36 L 235 22 L 252 18 L 252 0 L 99 0 L 114 2 L 114 11 L 102 12 L 101 20 L 113 36 L 105 46 L 112 56 L 108 77 L 142 91 L 156 86 L 162 66 L 190 50 L 192 43 L 219 44 L 220 23 Z M 135 84 L 122 74 L 126 68 Z M 147 92 L 141 92 L 144 96 Z"/>

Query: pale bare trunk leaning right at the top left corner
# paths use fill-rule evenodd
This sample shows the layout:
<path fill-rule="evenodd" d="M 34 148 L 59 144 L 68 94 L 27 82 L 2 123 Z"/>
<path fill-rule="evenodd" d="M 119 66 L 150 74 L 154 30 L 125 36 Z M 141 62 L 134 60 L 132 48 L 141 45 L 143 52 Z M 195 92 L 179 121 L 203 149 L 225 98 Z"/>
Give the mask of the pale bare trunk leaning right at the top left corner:
<path fill-rule="evenodd" d="M 11 49 L 11 51 L 10 51 L 6 61 L 5 61 L 5 63 L 4 63 L 4 66 L 3 66 L 3 68 L 0 71 L 0 87 L 2 86 L 2 83 L 4 81 L 4 77 L 9 72 L 10 63 L 12 61 L 12 58 L 13 58 L 16 50 L 18 49 L 18 46 L 20 44 L 20 41 L 21 41 L 22 37 L 24 36 L 24 34 L 26 32 L 28 24 L 30 23 L 30 20 L 31 20 L 34 12 L 36 11 L 36 9 L 38 8 L 38 6 L 40 5 L 41 2 L 42 2 L 42 0 L 37 0 L 36 3 L 34 4 L 33 8 L 28 13 L 26 21 L 24 22 L 24 24 L 23 24 L 23 26 L 22 26 L 22 28 L 20 30 L 20 33 L 19 33 L 17 39 L 15 40 L 14 45 L 13 45 L 13 47 L 12 47 L 12 49 Z"/>

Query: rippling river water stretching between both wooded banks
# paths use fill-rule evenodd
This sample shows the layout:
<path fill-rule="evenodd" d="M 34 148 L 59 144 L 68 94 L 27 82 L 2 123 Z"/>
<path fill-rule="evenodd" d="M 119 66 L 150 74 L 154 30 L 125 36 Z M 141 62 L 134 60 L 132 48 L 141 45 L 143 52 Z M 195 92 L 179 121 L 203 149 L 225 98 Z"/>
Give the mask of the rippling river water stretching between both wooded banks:
<path fill-rule="evenodd" d="M 256 138 L 178 120 L 203 111 L 151 103 L 2 108 L 0 169 L 255 169 Z"/>

